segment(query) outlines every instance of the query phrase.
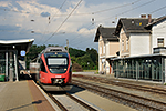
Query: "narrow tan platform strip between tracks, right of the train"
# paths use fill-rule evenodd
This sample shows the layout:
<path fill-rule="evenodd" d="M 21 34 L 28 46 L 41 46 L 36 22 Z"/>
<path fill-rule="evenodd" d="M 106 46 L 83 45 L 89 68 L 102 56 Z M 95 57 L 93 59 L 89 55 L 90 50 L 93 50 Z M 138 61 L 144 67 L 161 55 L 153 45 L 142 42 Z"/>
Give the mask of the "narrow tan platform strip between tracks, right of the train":
<path fill-rule="evenodd" d="M 77 99 L 84 100 L 90 105 L 98 109 L 98 111 L 136 111 L 135 109 L 132 109 L 127 105 L 116 103 L 106 98 L 76 87 L 73 87 L 70 93 L 73 93 L 73 95 Z"/>

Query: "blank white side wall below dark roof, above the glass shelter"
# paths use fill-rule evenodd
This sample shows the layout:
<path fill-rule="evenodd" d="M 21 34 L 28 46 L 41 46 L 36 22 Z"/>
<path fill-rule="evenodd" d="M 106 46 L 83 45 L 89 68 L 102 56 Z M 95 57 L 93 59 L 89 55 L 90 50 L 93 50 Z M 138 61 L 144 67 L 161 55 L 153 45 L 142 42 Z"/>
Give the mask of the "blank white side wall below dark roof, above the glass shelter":
<path fill-rule="evenodd" d="M 151 54 L 149 33 L 131 33 L 131 57 Z"/>

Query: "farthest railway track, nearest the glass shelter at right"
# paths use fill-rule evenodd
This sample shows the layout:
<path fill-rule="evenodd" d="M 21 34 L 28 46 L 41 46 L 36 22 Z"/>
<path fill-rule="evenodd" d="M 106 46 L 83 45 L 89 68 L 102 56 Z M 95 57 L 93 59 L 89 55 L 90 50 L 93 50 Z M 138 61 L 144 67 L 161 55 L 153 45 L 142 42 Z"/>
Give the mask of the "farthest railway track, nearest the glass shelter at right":
<path fill-rule="evenodd" d="M 126 83 L 117 80 L 107 80 L 107 79 L 101 79 L 97 77 L 89 77 L 89 75 L 73 75 L 75 78 L 81 78 L 81 79 L 86 79 L 86 80 L 92 80 L 92 81 L 97 81 L 101 83 L 107 83 L 112 85 L 117 85 L 117 87 L 124 87 L 124 88 L 129 88 L 134 90 L 141 90 L 141 91 L 147 91 L 152 93 L 157 93 L 157 94 L 166 94 L 166 90 L 159 89 L 159 88 L 153 88 L 153 87 L 147 87 L 147 85 L 138 85 L 138 84 L 133 84 L 133 83 Z"/>

